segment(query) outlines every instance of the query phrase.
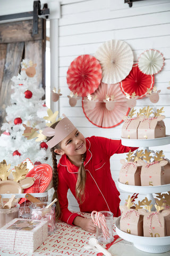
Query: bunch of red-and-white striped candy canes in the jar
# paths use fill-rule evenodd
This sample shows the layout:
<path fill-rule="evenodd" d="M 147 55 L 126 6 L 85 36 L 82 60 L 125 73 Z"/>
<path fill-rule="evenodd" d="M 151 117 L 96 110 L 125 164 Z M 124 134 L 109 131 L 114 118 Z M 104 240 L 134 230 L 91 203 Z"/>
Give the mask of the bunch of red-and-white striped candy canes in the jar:
<path fill-rule="evenodd" d="M 94 217 L 94 214 L 95 214 L 95 217 Z M 106 225 L 105 216 L 101 212 L 92 211 L 91 219 L 96 226 L 101 228 L 101 230 L 103 231 L 103 235 L 104 235 L 105 239 L 107 240 L 107 238 L 110 237 L 110 234 L 109 234 L 108 227 Z"/>

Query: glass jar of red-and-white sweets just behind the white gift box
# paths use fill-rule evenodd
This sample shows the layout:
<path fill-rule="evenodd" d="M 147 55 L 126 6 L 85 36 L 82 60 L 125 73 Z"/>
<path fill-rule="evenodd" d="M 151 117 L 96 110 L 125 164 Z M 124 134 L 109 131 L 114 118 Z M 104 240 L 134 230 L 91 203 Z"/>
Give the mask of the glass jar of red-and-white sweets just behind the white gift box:
<path fill-rule="evenodd" d="M 45 208 L 51 202 L 33 203 L 30 208 L 30 219 L 32 220 L 47 220 L 48 221 L 48 235 L 54 232 L 55 226 L 55 204 L 49 208 Z"/>

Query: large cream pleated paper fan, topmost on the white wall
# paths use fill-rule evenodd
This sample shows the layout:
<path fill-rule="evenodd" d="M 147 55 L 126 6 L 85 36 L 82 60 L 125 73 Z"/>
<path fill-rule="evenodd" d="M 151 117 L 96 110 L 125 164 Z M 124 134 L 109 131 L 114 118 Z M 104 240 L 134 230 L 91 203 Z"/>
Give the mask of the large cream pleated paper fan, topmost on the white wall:
<path fill-rule="evenodd" d="M 102 82 L 116 84 L 129 75 L 133 65 L 131 47 L 120 40 L 103 43 L 95 53 L 102 70 Z"/>

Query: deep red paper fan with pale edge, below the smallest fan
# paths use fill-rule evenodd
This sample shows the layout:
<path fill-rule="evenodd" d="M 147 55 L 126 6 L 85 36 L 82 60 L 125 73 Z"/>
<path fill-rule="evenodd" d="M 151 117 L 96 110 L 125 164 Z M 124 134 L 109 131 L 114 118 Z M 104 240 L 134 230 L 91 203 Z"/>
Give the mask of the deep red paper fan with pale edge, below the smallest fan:
<path fill-rule="evenodd" d="M 121 90 L 124 94 L 129 93 L 130 96 L 133 92 L 139 99 L 146 96 L 148 90 L 152 90 L 154 86 L 154 76 L 143 74 L 138 64 L 133 65 L 129 75 L 120 83 Z"/>

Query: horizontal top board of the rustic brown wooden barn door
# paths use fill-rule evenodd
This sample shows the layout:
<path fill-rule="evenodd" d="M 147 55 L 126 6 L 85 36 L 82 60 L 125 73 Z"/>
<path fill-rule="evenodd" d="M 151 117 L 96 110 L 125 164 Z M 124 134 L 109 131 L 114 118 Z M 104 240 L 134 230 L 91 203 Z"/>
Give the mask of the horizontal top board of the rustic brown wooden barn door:
<path fill-rule="evenodd" d="M 32 35 L 33 20 L 0 24 L 0 43 L 25 42 L 43 39 L 44 19 L 38 20 L 38 34 Z"/>

